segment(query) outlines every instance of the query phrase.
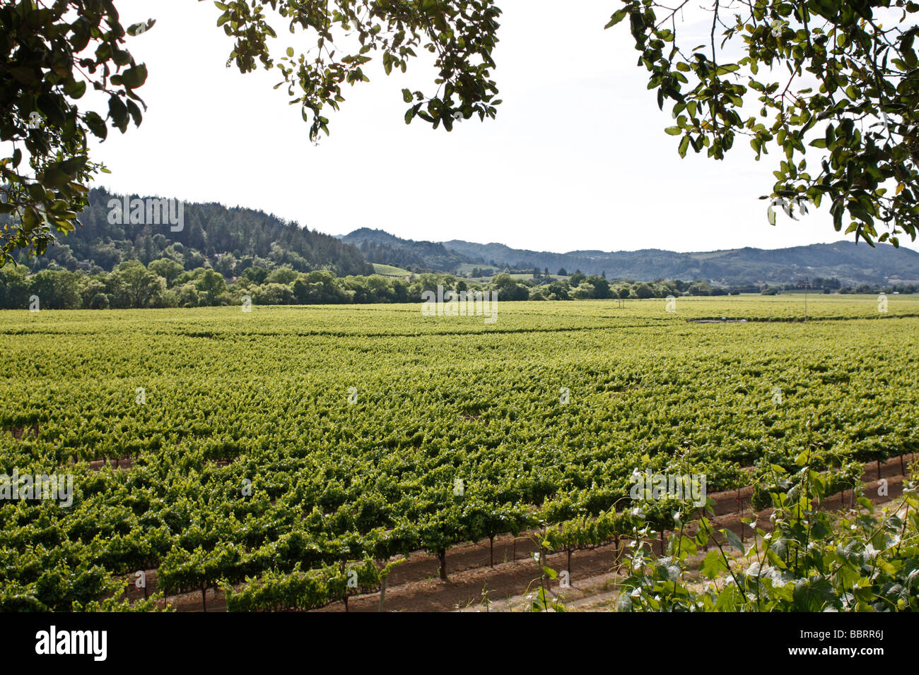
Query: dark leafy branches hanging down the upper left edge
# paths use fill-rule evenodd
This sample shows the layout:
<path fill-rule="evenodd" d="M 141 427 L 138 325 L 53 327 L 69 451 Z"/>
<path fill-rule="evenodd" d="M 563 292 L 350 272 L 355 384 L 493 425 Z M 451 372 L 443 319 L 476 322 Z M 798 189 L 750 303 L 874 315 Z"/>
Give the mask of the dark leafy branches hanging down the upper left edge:
<path fill-rule="evenodd" d="M 153 21 L 123 28 L 104 0 L 49 4 L 0 7 L 0 141 L 12 148 L 0 158 L 0 214 L 17 216 L 0 231 L 0 264 L 17 249 L 44 253 L 55 232 L 74 230 L 86 184 L 104 170 L 90 161 L 87 135 L 105 139 L 107 120 L 124 132 L 130 119 L 142 119 L 135 89 L 147 69 L 123 46 L 126 34 Z M 90 87 L 108 97 L 105 118 L 77 105 Z"/>

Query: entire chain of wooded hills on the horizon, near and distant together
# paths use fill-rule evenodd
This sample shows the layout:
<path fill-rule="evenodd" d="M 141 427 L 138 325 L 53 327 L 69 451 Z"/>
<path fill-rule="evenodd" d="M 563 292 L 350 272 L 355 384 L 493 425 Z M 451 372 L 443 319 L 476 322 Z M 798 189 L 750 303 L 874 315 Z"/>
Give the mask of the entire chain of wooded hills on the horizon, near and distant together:
<path fill-rule="evenodd" d="M 705 280 L 722 286 L 787 284 L 803 277 L 835 278 L 850 287 L 919 280 L 919 253 L 889 244 L 870 248 L 864 243 L 835 242 L 696 253 L 662 249 L 553 253 L 496 242 L 416 242 L 369 228 L 335 237 L 264 211 L 214 203 L 185 203 L 181 228 L 135 224 L 130 218 L 111 217 L 110 200 L 122 198 L 105 189 L 92 190 L 89 207 L 80 216 L 82 228 L 61 236 L 47 255 L 28 261 L 22 256 L 20 261 L 31 271 L 51 261 L 71 270 L 110 271 L 126 260 L 149 264 L 166 257 L 187 270 L 213 266 L 228 278 L 250 266 L 270 269 L 284 264 L 300 272 L 328 269 L 339 276 L 370 275 L 374 264 L 380 264 L 467 276 L 475 267 L 495 272 L 548 268 L 551 274 L 580 270 L 608 279 Z"/>

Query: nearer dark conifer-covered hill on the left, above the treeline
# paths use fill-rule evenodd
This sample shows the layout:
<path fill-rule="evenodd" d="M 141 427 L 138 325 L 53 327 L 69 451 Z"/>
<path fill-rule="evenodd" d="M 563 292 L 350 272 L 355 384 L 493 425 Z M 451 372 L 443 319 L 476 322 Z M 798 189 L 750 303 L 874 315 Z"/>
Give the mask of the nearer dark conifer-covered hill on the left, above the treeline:
<path fill-rule="evenodd" d="M 109 222 L 108 204 L 113 198 L 120 200 L 122 196 L 93 189 L 89 206 L 80 215 L 83 227 L 59 236 L 58 242 L 48 247 L 47 255 L 28 261 L 23 258 L 22 262 L 32 270 L 47 267 L 55 260 L 67 269 L 97 265 L 110 271 L 126 260 L 148 264 L 166 257 L 187 270 L 203 266 L 207 259 L 212 265 L 220 260 L 219 266 L 227 269 L 289 264 L 301 272 L 331 269 L 340 276 L 373 272 L 373 265 L 355 246 L 263 211 L 185 203 L 182 228 L 173 231 L 168 222 L 131 224 L 130 218 L 124 219 L 124 224 L 120 219 Z M 248 264 L 234 265 L 244 259 Z"/>

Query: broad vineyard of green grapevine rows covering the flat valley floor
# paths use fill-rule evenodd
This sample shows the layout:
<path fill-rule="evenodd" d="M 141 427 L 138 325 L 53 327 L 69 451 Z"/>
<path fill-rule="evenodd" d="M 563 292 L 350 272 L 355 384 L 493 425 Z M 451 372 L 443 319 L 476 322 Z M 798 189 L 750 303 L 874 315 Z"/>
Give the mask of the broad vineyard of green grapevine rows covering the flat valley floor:
<path fill-rule="evenodd" d="M 414 550 L 613 523 L 634 470 L 714 491 L 806 444 L 919 444 L 919 298 L 673 309 L 0 312 L 0 472 L 74 476 L 69 507 L 0 501 L 0 609 L 84 606 L 138 569 L 173 591 L 248 578 L 236 609 L 322 606 Z M 747 322 L 690 321 L 720 317 Z"/>

